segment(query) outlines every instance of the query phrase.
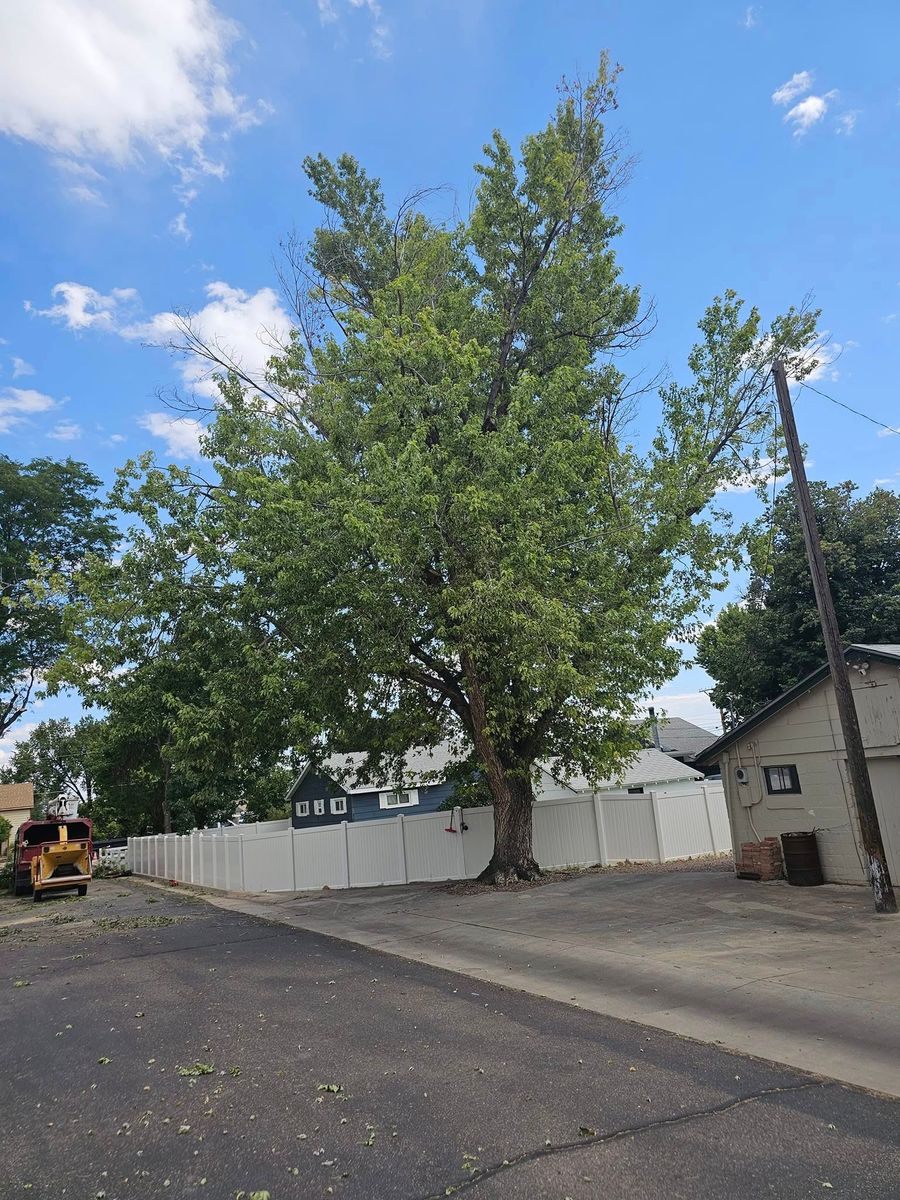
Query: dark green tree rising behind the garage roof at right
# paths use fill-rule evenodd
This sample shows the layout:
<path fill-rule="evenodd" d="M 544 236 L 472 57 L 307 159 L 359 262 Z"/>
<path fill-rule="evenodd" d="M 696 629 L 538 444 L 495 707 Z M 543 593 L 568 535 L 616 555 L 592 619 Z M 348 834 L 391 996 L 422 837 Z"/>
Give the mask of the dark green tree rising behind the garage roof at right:
<path fill-rule="evenodd" d="M 841 636 L 900 643 L 900 496 L 878 487 L 857 497 L 851 482 L 810 490 Z M 709 695 L 728 725 L 824 661 L 792 486 L 756 538 L 743 601 L 702 631 L 697 661 L 715 680 Z"/>

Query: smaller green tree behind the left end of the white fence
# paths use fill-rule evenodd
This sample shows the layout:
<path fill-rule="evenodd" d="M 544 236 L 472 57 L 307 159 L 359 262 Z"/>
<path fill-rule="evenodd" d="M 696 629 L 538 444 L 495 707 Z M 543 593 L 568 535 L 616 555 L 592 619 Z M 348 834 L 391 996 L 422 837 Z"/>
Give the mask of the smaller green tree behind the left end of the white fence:
<path fill-rule="evenodd" d="M 260 670 L 234 584 L 198 554 L 192 490 L 162 509 L 132 491 L 133 474 L 112 499 L 134 524 L 115 562 L 88 558 L 49 677 L 103 712 L 94 764 L 106 824 L 169 833 L 238 811 L 282 815 L 290 769 L 272 665 Z"/>

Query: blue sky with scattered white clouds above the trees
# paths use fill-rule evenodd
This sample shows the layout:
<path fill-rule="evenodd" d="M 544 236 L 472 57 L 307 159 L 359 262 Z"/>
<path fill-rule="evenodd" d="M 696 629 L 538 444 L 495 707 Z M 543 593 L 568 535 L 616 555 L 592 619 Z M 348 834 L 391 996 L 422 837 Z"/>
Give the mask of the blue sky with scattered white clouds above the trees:
<path fill-rule="evenodd" d="M 161 348 L 169 314 L 262 361 L 259 330 L 287 323 L 278 241 L 316 220 L 305 155 L 348 150 L 391 198 L 445 185 L 464 211 L 491 130 L 541 125 L 604 48 L 636 156 L 619 258 L 658 312 L 635 366 L 683 374 L 724 288 L 768 316 L 811 293 L 816 385 L 900 425 L 898 44 L 887 0 L 6 5 L 0 451 L 71 454 L 107 481 L 148 448 L 190 456 L 196 430 L 158 394 L 208 385 Z M 809 391 L 797 418 L 814 478 L 900 485 L 900 439 Z M 686 668 L 664 703 L 712 727 L 706 684 Z M 72 709 L 48 701 L 17 732 Z"/>

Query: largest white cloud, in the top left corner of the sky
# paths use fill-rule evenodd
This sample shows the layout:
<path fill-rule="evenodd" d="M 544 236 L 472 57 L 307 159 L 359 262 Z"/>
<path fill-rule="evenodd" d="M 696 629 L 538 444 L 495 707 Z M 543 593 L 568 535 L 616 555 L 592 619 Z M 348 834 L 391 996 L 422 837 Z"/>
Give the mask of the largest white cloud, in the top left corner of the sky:
<path fill-rule="evenodd" d="M 0 5 L 0 132 L 65 170 L 148 154 L 222 174 L 210 143 L 262 118 L 232 86 L 239 36 L 212 0 L 28 0 Z"/>

